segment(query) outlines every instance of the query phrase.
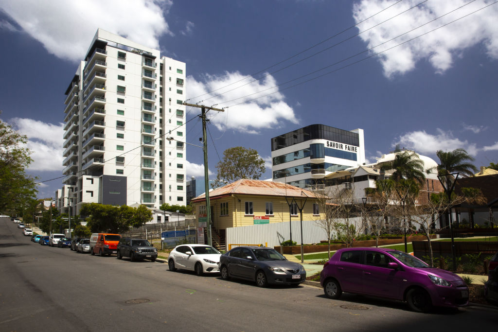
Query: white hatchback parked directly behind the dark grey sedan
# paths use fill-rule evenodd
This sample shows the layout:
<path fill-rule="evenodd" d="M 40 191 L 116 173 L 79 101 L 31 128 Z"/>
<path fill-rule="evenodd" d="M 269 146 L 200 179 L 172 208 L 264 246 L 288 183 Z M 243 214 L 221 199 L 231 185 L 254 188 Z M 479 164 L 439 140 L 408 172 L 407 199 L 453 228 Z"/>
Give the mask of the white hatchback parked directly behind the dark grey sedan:
<path fill-rule="evenodd" d="M 203 273 L 219 273 L 221 252 L 206 244 L 182 244 L 169 253 L 168 266 L 170 271 L 185 269 Z"/>

